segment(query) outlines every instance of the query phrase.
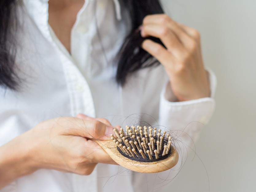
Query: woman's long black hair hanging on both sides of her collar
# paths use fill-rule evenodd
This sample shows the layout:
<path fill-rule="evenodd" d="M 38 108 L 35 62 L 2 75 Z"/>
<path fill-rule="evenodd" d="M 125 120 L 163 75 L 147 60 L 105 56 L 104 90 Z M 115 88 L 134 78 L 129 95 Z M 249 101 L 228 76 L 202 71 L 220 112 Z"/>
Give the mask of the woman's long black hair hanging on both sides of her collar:
<path fill-rule="evenodd" d="M 0 1 L 0 86 L 17 90 L 19 77 L 14 72 L 15 43 L 17 39 L 17 0 Z M 145 67 L 157 66 L 159 62 L 141 48 L 142 38 L 138 27 L 149 14 L 163 13 L 159 0 L 124 0 L 131 17 L 131 32 L 117 55 L 116 81 L 125 85 L 127 77 Z M 161 43 L 157 38 L 150 39 Z"/>

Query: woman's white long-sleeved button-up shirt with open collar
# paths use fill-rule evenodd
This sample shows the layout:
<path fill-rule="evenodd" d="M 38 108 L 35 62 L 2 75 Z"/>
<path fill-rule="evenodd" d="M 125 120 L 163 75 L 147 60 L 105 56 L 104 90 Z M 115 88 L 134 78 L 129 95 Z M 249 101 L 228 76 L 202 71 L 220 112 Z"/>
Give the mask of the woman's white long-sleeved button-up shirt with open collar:
<path fill-rule="evenodd" d="M 164 93 L 168 78 L 163 66 L 140 70 L 124 87 L 117 85 L 113 60 L 130 22 L 117 0 L 85 1 L 72 28 L 71 54 L 48 25 L 48 0 L 24 3 L 16 59 L 17 72 L 24 81 L 19 92 L 0 89 L 0 146 L 43 120 L 83 113 L 106 118 L 114 126 L 131 125 L 135 120 L 138 123 L 136 117 L 140 115 L 142 121 L 177 130 L 182 142 L 176 144 L 193 147 L 201 123 L 207 123 L 214 111 L 214 100 L 167 101 Z M 209 72 L 213 96 L 216 79 Z M 180 160 L 186 156 L 184 146 L 180 147 Z M 179 166 L 158 174 L 142 174 L 117 165 L 98 164 L 88 176 L 40 169 L 0 191 L 153 191 L 165 186 L 161 179 L 173 178 Z"/>

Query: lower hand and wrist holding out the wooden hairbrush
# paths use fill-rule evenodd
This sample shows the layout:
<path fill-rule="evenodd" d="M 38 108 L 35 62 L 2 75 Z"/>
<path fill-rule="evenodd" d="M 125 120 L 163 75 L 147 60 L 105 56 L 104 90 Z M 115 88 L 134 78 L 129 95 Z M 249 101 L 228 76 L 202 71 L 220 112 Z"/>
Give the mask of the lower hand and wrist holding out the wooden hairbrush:
<path fill-rule="evenodd" d="M 97 163 L 116 164 L 94 139 L 107 139 L 113 126 L 106 119 L 60 117 L 0 147 L 0 189 L 40 168 L 89 175 Z"/>

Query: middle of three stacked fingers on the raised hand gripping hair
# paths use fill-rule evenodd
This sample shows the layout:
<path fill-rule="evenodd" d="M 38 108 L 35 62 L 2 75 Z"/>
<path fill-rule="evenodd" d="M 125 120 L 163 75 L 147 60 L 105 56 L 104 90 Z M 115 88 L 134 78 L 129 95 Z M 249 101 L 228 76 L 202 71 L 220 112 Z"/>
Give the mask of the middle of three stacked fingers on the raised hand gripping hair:
<path fill-rule="evenodd" d="M 143 35 L 154 36 L 160 38 L 168 51 L 176 58 L 182 58 L 185 47 L 171 29 L 163 25 L 147 24 L 143 26 Z"/>

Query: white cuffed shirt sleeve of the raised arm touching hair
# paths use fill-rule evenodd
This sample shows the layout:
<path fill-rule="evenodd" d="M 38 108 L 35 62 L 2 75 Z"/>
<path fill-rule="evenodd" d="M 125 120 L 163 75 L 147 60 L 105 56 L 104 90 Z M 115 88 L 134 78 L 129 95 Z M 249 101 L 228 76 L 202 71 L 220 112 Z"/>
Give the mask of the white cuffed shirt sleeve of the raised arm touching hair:
<path fill-rule="evenodd" d="M 208 123 L 215 109 L 215 100 L 213 96 L 216 88 L 216 77 L 211 70 L 208 71 L 211 96 L 196 100 L 175 102 L 176 97 L 172 92 L 168 94 L 168 100 L 165 98 L 166 86 L 163 88 L 160 96 L 159 105 L 159 125 L 165 126 L 173 137 L 173 143 L 179 153 L 179 161 L 172 169 L 150 174 L 136 174 L 134 177 L 134 189 L 143 190 L 145 188 L 142 180 L 147 183 L 148 188 L 168 187 L 182 168 L 188 152 L 193 149 L 194 143 L 199 137 L 202 127 Z M 171 101 L 170 101 L 171 100 Z"/>

